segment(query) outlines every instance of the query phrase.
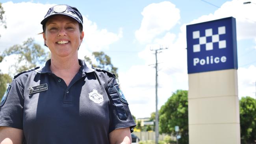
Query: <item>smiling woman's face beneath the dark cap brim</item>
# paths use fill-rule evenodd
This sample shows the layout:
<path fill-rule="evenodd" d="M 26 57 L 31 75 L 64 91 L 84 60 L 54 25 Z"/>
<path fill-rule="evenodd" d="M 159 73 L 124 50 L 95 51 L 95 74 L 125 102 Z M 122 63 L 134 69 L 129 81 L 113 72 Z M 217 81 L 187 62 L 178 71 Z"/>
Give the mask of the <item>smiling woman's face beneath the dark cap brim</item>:
<path fill-rule="evenodd" d="M 43 37 L 52 57 L 77 56 L 83 31 L 80 32 L 76 20 L 65 15 L 56 15 L 49 18 L 45 26 Z"/>

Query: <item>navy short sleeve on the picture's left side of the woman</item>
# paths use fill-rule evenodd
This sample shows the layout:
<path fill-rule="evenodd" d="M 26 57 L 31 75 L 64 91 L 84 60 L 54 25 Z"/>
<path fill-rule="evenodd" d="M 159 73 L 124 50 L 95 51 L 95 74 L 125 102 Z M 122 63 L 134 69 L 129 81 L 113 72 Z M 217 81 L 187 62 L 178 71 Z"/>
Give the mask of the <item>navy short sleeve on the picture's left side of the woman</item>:
<path fill-rule="evenodd" d="M 23 88 L 17 80 L 13 80 L 6 92 L 6 100 L 0 106 L 0 126 L 23 129 Z"/>

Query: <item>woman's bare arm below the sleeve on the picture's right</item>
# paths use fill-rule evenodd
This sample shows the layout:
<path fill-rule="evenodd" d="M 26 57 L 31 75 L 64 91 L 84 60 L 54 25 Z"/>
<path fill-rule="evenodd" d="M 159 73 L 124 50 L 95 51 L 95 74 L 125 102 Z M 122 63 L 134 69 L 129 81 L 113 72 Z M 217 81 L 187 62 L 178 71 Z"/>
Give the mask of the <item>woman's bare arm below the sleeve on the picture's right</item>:
<path fill-rule="evenodd" d="M 131 144 L 132 137 L 130 127 L 111 131 L 111 133 L 109 133 L 109 142 L 110 144 Z"/>

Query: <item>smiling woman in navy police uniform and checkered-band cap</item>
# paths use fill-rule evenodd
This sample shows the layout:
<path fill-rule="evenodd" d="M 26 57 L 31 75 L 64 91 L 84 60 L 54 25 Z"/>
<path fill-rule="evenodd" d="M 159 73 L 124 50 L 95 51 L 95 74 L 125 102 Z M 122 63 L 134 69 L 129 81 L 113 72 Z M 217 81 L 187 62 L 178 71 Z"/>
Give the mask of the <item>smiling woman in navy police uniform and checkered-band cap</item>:
<path fill-rule="evenodd" d="M 129 144 L 135 122 L 115 80 L 78 59 L 83 18 L 68 5 L 42 20 L 51 59 L 14 77 L 0 103 L 1 144 Z"/>

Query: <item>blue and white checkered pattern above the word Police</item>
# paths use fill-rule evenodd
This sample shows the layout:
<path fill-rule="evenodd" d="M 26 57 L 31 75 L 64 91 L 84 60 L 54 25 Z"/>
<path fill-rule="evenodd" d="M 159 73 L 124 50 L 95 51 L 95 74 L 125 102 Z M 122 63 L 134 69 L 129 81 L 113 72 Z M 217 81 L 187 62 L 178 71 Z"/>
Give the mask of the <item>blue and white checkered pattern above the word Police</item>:
<path fill-rule="evenodd" d="M 193 52 L 200 52 L 201 45 L 205 44 L 206 50 L 213 50 L 213 43 L 218 42 L 219 48 L 226 48 L 226 40 L 219 40 L 219 35 L 226 33 L 226 27 L 218 27 L 218 34 L 213 35 L 212 29 L 205 30 L 205 36 L 200 37 L 200 31 L 193 31 L 193 39 L 199 39 L 199 44 L 193 45 Z M 206 42 L 206 39 L 210 38 L 210 41 Z"/>

